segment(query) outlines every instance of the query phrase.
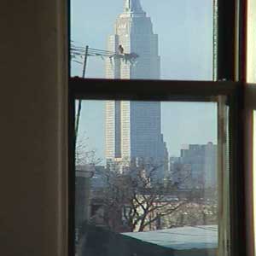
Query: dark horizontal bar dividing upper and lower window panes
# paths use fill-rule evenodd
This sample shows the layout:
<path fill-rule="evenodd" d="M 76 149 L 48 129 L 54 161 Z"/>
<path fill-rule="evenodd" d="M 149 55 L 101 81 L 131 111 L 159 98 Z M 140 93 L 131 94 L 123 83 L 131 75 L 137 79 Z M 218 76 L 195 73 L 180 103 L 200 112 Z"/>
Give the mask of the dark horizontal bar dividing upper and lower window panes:
<path fill-rule="evenodd" d="M 77 99 L 144 101 L 215 101 L 214 96 L 231 96 L 241 83 L 230 81 L 152 81 L 70 79 L 70 93 Z"/>

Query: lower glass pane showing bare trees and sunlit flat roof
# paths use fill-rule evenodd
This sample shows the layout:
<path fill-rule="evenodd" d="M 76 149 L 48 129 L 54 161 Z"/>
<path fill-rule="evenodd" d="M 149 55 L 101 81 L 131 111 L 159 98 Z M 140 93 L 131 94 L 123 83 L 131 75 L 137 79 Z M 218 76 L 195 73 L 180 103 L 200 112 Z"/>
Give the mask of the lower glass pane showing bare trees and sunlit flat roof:
<path fill-rule="evenodd" d="M 226 255 L 224 105 L 80 103 L 77 255 Z"/>

